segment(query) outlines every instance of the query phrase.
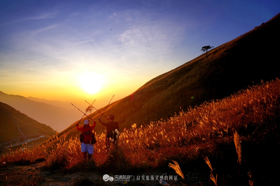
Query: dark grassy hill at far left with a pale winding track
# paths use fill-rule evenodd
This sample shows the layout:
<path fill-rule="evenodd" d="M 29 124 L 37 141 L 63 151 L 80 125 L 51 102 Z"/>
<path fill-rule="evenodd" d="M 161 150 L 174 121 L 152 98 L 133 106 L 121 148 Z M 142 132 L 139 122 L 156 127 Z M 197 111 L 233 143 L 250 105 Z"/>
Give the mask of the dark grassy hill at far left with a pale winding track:
<path fill-rule="evenodd" d="M 53 136 L 56 134 L 56 131 L 50 126 L 37 122 L 5 103 L 0 102 L 0 110 L 0 143 L 21 137 L 22 134 L 18 131 L 18 126 L 26 136 L 41 134 Z M 18 122 L 18 125 L 14 120 Z"/>

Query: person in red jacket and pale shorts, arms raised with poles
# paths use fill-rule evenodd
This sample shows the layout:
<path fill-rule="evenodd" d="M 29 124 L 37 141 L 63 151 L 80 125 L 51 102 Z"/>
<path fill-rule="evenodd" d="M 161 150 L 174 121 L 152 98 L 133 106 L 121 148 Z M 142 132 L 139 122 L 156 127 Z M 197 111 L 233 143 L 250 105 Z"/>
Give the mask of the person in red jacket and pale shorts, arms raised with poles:
<path fill-rule="evenodd" d="M 94 151 L 94 145 L 90 144 L 90 142 L 93 140 L 92 138 L 92 130 L 94 129 L 96 122 L 94 120 L 93 125 L 90 126 L 90 121 L 86 119 L 84 121 L 84 125 L 82 127 L 79 127 L 79 123 L 76 124 L 76 127 L 78 130 L 82 131 L 82 134 L 80 135 L 81 138 L 83 138 L 81 143 L 81 151 L 83 153 L 83 157 L 86 159 L 90 159 L 93 151 Z M 87 157 L 88 154 L 88 157 Z"/>

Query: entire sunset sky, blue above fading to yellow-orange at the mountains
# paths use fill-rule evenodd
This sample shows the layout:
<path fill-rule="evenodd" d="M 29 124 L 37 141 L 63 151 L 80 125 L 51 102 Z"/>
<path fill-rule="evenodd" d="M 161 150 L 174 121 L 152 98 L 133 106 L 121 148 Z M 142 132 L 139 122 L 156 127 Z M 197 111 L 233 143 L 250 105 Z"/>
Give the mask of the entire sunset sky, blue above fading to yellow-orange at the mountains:
<path fill-rule="evenodd" d="M 279 12 L 279 0 L 1 0 L 0 91 L 101 107 Z"/>

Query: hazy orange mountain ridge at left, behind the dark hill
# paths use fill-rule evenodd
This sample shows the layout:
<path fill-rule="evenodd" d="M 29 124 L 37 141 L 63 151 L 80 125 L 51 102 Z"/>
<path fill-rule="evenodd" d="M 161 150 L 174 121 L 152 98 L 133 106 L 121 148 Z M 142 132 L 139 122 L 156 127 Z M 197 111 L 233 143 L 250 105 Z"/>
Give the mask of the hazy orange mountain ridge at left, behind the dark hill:
<path fill-rule="evenodd" d="M 58 132 L 66 129 L 71 123 L 82 117 L 77 109 L 55 107 L 50 104 L 36 102 L 20 95 L 8 95 L 0 91 L 0 102 L 6 103 L 16 110 L 34 118 L 40 123 L 49 125 Z M 73 107 L 73 106 L 72 106 Z"/>

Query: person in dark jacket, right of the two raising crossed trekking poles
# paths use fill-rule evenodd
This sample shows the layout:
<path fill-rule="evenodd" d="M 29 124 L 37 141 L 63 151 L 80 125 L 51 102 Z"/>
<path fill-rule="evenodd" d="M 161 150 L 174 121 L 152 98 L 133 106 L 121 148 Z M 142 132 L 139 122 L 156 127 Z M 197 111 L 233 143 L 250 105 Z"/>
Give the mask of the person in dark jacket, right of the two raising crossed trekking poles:
<path fill-rule="evenodd" d="M 118 122 L 114 121 L 114 114 L 110 114 L 109 118 L 107 117 L 107 119 L 109 120 L 109 122 L 102 122 L 101 118 L 98 119 L 98 121 L 103 125 L 107 127 L 107 134 L 106 134 L 106 150 L 108 150 L 110 148 L 110 144 L 113 143 L 114 145 L 117 145 L 118 143 L 118 136 L 120 135 L 119 132 L 119 126 L 118 126 Z"/>

